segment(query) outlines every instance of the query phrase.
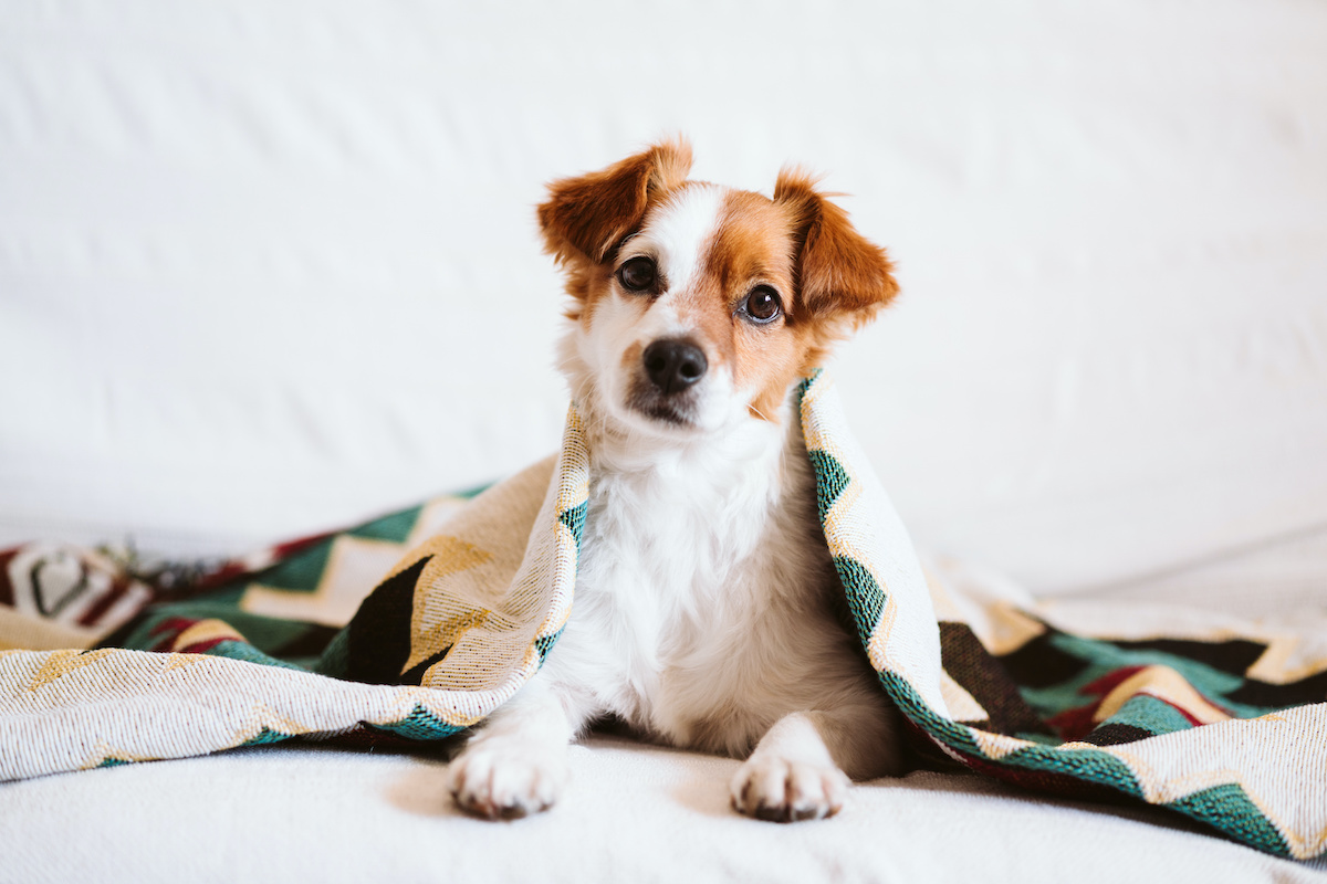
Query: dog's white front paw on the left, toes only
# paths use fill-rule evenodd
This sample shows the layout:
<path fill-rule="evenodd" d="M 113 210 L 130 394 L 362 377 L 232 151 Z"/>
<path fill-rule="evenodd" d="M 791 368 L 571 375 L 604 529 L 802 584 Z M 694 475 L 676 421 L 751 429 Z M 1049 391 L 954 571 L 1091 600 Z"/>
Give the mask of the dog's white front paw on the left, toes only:
<path fill-rule="evenodd" d="M 475 742 L 447 769 L 456 806 L 486 819 L 518 819 L 547 810 L 567 785 L 561 751 L 525 740 Z"/>

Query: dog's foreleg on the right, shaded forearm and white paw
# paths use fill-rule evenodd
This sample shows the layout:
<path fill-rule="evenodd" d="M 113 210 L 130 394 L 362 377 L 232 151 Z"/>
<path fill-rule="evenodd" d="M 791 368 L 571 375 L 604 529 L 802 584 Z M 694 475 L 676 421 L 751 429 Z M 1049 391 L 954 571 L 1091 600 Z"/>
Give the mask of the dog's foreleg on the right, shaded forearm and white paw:
<path fill-rule="evenodd" d="M 733 777 L 734 810 L 780 823 L 833 816 L 848 795 L 849 774 L 869 779 L 898 771 L 896 714 L 860 708 L 784 716 Z"/>

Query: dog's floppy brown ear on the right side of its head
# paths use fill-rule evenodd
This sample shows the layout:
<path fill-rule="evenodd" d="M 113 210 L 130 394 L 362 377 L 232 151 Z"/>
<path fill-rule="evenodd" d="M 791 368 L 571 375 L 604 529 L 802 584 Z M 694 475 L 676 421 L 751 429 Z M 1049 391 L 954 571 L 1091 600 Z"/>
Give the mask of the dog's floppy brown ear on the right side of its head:
<path fill-rule="evenodd" d="M 798 305 L 811 315 L 845 313 L 864 322 L 898 293 L 894 265 L 825 197 L 795 168 L 780 171 L 774 186 L 774 201 L 792 209 L 798 231 Z"/>

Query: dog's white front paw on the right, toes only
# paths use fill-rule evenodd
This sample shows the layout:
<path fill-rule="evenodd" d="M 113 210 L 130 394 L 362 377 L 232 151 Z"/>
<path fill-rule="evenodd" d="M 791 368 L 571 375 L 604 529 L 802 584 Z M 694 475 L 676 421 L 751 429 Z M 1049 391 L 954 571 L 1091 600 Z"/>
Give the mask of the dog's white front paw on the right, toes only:
<path fill-rule="evenodd" d="M 752 755 L 733 777 L 733 810 L 776 823 L 824 819 L 843 807 L 848 785 L 837 767 Z"/>

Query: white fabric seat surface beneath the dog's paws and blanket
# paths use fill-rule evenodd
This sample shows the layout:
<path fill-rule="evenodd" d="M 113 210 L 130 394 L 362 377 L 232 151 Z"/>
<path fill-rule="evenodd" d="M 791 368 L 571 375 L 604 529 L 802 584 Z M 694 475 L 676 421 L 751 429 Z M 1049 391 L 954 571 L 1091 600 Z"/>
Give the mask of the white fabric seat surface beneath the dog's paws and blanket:
<path fill-rule="evenodd" d="M 829 820 L 733 814 L 736 762 L 596 737 L 545 815 L 460 815 L 441 761 L 318 747 L 0 786 L 15 881 L 1323 881 L 1169 815 L 1032 799 L 965 775 L 853 790 Z"/>

